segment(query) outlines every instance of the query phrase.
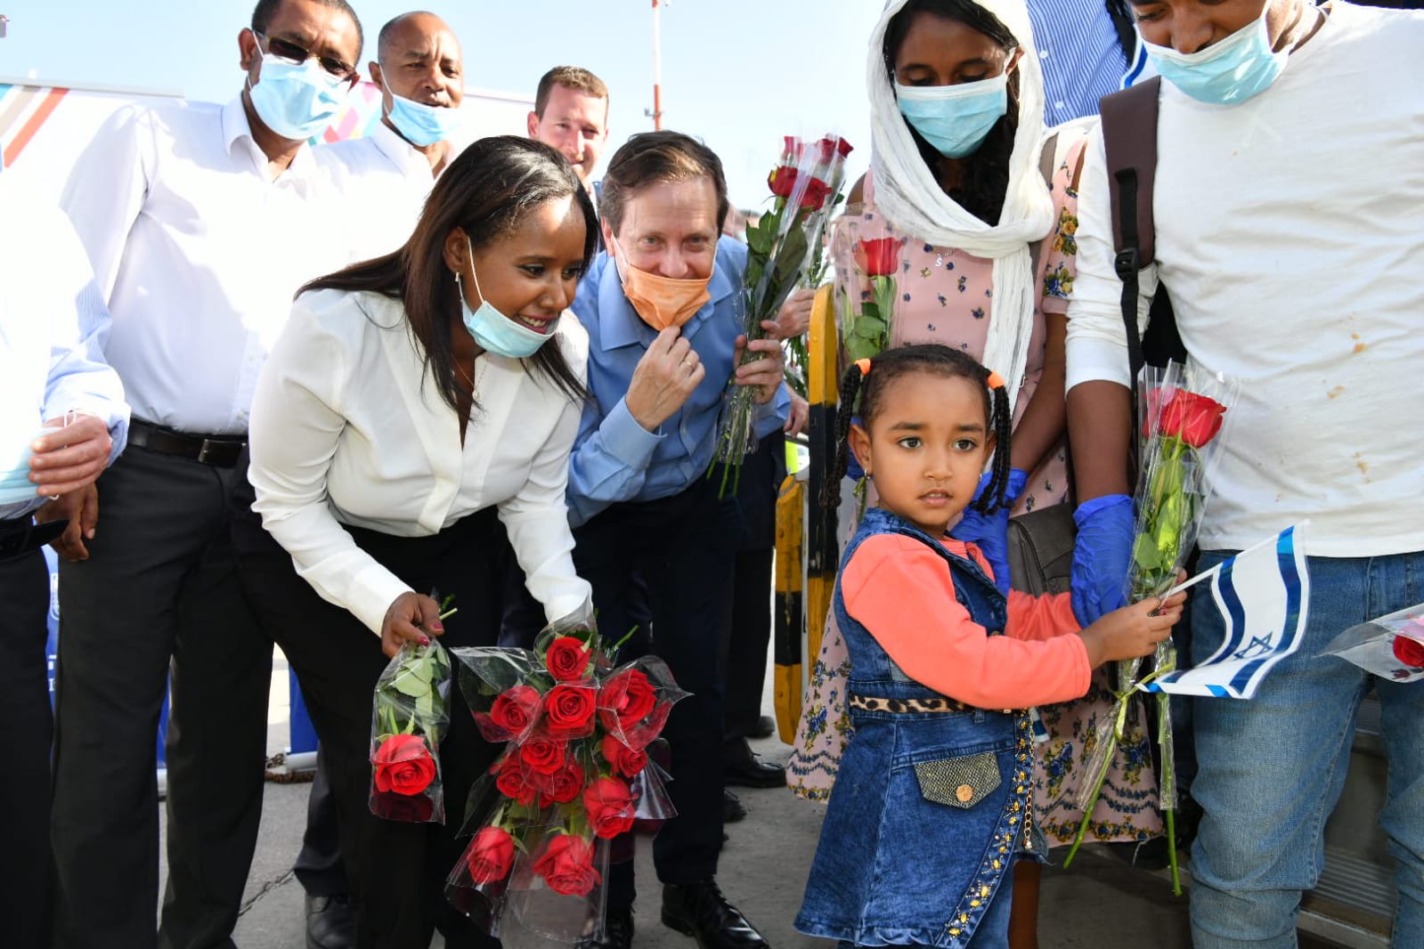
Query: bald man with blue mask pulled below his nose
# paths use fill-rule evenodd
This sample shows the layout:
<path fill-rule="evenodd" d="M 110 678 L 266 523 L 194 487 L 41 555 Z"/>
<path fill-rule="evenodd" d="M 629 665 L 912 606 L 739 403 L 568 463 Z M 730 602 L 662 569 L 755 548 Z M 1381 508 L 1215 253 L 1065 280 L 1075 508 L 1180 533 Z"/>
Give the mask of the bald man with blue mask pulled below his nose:
<path fill-rule="evenodd" d="M 460 40 L 433 13 L 403 13 L 380 28 L 370 80 L 380 87 L 380 121 L 362 138 L 316 149 L 355 216 L 352 260 L 406 242 L 434 179 L 456 155 L 464 61 Z"/>

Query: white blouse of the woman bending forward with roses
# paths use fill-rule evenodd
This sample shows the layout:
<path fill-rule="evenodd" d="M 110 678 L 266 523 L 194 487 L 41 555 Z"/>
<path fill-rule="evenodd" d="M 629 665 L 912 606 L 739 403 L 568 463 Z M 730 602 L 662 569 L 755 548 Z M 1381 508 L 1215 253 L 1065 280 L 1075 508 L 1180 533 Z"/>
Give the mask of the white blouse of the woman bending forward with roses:
<path fill-rule="evenodd" d="M 588 334 L 571 313 L 555 339 L 584 380 Z M 464 444 L 431 383 L 399 300 L 303 293 L 252 404 L 253 509 L 325 599 L 372 632 L 407 592 L 356 546 L 343 524 L 429 536 L 496 505 L 534 599 L 550 620 L 580 609 L 564 507 L 581 405 L 520 360 L 474 361 L 478 405 Z M 427 590 L 419 590 L 427 592 Z"/>

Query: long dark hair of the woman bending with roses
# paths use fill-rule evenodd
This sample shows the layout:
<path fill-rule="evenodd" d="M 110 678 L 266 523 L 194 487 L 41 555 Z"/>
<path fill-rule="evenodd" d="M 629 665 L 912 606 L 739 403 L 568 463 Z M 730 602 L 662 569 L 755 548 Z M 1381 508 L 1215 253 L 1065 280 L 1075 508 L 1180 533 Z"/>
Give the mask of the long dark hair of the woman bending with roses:
<path fill-rule="evenodd" d="M 444 243 L 460 228 L 478 250 L 517 230 L 547 201 L 574 195 L 584 212 L 584 269 L 598 245 L 594 205 L 582 182 L 557 151 L 518 135 L 481 138 L 456 158 L 426 198 L 414 233 L 386 256 L 318 277 L 308 290 L 366 290 L 400 300 L 410 329 L 426 351 L 426 367 L 451 408 L 459 410 L 450 327 L 460 320 L 460 289 L 444 262 Z M 587 391 L 564 359 L 558 340 L 548 340 L 528 360 L 570 398 Z"/>

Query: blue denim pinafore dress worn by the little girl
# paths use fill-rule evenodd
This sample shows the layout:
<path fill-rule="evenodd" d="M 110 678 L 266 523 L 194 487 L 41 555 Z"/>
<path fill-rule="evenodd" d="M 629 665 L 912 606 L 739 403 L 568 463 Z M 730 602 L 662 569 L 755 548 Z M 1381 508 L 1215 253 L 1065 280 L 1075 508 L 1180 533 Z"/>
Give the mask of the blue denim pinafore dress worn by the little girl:
<path fill-rule="evenodd" d="M 980 566 L 881 508 L 860 521 L 842 569 L 876 534 L 903 534 L 940 553 L 974 622 L 1002 633 L 1004 596 Z M 1028 717 L 1022 709 L 970 709 L 921 686 L 850 617 L 839 585 L 833 606 L 850 653 L 854 733 L 796 929 L 866 946 L 963 949 L 1001 886 L 1007 896 L 1005 875 L 1032 820 Z M 1007 931 L 1007 899 L 994 916 Z M 1007 945 L 1007 936 L 983 936 L 975 949 Z"/>

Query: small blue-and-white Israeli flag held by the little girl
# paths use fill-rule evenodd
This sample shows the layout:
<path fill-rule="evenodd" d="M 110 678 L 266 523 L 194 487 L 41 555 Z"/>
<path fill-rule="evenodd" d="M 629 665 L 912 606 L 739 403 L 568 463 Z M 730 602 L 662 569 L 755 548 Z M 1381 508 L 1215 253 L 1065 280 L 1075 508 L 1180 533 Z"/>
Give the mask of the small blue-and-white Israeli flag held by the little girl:
<path fill-rule="evenodd" d="M 1178 588 L 1210 578 L 1212 599 L 1226 620 L 1226 639 L 1206 662 L 1165 673 L 1143 686 L 1146 691 L 1223 699 L 1256 694 L 1272 667 L 1296 652 L 1306 633 L 1310 575 L 1304 526 L 1286 528 Z"/>

